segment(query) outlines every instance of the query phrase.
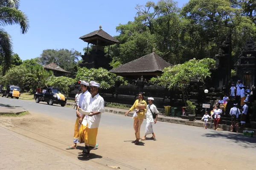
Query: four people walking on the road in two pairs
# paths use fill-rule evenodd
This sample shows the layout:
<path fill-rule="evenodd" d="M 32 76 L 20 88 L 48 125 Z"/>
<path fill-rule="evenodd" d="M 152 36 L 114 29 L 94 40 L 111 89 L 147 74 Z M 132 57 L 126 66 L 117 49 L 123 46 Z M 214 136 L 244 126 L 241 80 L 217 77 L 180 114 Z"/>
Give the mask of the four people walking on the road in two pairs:
<path fill-rule="evenodd" d="M 83 158 L 90 158 L 90 151 L 96 149 L 96 138 L 99 128 L 99 122 L 101 119 L 101 113 L 104 113 L 104 99 L 99 95 L 100 84 L 94 81 L 80 80 L 81 94 L 77 92 L 75 97 L 76 105 L 76 122 L 74 128 L 73 144 L 70 147 L 66 147 L 66 150 L 76 149 L 77 143 L 84 143 Z M 90 92 L 88 88 L 90 87 Z M 152 134 L 151 139 L 156 136 L 153 131 L 153 123 L 157 122 L 157 107 L 153 104 L 154 98 L 148 97 L 148 105 L 144 100 L 144 93 L 140 92 L 138 99 L 134 102 L 131 109 L 125 113 L 125 116 L 135 109 L 133 116 L 134 130 L 136 139 L 132 142 L 139 144 L 140 141 L 140 127 L 143 123 L 145 114 L 147 124 L 145 127 L 145 135 L 141 140 L 146 140 L 148 134 Z M 85 113 L 85 114 L 84 114 Z M 89 113 L 89 114 L 86 114 Z"/>

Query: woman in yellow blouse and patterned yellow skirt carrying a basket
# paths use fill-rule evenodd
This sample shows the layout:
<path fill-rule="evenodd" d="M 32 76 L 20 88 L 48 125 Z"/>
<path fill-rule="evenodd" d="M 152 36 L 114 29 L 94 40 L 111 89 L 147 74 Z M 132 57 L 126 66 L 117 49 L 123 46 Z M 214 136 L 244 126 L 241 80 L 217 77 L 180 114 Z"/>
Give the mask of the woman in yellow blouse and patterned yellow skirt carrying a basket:
<path fill-rule="evenodd" d="M 136 140 L 132 142 L 134 144 L 139 144 L 140 126 L 144 120 L 145 112 L 147 111 L 147 109 L 146 109 L 147 103 L 144 100 L 144 93 L 140 92 L 138 95 L 138 98 L 139 99 L 137 99 L 134 102 L 134 105 L 130 108 L 130 110 L 125 113 L 125 116 L 127 116 L 129 112 L 133 111 L 134 108 L 136 108 L 137 116 L 134 116 L 134 130 L 135 130 Z"/>

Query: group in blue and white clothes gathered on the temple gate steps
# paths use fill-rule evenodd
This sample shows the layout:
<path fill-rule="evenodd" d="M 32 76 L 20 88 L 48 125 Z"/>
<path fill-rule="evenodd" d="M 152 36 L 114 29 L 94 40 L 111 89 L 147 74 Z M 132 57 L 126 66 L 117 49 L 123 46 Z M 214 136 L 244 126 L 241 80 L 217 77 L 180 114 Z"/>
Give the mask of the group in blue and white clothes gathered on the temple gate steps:
<path fill-rule="evenodd" d="M 236 86 L 233 83 L 232 87 L 230 88 L 230 98 L 235 100 L 235 103 L 233 104 L 233 108 L 230 109 L 230 116 L 231 116 L 230 132 L 233 132 L 234 129 L 236 129 L 236 132 L 238 132 L 239 115 L 241 115 L 241 127 L 242 128 L 245 127 L 247 112 L 248 112 L 247 102 L 249 101 L 249 96 L 252 93 L 249 86 L 247 86 L 247 89 L 245 88 L 246 86 L 244 86 L 240 80 L 238 80 Z M 227 94 L 225 94 L 223 98 L 220 97 L 218 102 L 215 104 L 215 107 L 211 111 L 211 116 L 209 116 L 208 112 L 206 111 L 205 115 L 202 117 L 202 120 L 204 120 L 205 122 L 205 127 L 204 127 L 205 129 L 207 129 L 208 119 L 214 116 L 215 130 L 219 130 L 218 125 L 221 121 L 221 114 L 224 111 L 226 111 L 227 103 L 230 101 L 230 98 L 228 97 Z M 239 105 L 241 105 L 241 111 L 239 109 Z"/>

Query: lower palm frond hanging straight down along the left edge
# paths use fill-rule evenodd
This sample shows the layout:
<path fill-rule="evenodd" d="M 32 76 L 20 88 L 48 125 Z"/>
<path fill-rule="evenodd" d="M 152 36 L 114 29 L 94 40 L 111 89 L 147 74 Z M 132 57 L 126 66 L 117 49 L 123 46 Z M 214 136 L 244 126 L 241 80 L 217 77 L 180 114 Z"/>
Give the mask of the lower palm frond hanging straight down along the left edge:
<path fill-rule="evenodd" d="M 0 58 L 2 59 L 2 73 L 5 75 L 11 66 L 12 40 L 11 36 L 2 28 L 0 28 Z"/>

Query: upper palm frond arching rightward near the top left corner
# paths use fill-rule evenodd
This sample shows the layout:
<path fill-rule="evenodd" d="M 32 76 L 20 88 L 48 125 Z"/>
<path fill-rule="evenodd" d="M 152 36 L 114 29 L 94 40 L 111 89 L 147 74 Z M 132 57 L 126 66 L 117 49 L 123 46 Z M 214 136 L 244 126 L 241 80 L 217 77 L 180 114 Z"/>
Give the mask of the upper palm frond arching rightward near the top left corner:
<path fill-rule="evenodd" d="M 29 19 L 17 8 L 0 7 L 0 26 L 19 24 L 22 34 L 29 28 Z"/>

